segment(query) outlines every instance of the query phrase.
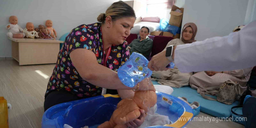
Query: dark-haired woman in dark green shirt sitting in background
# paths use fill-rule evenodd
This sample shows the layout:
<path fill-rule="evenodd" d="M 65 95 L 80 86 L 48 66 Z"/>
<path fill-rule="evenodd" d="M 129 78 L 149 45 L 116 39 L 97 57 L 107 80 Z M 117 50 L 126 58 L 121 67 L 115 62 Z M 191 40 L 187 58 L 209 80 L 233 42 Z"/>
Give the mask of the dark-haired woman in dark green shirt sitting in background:
<path fill-rule="evenodd" d="M 149 35 L 149 28 L 146 26 L 141 27 L 140 38 L 133 40 L 128 45 L 130 54 L 132 54 L 133 52 L 138 52 L 146 58 L 149 57 L 153 46 L 153 40 L 148 38 L 147 35 Z"/>

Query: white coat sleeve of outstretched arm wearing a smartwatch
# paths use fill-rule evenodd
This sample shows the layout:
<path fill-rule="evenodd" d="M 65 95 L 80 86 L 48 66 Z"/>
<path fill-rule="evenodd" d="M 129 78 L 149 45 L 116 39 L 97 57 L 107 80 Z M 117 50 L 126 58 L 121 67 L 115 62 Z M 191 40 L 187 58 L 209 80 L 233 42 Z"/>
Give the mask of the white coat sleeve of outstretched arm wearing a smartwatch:
<path fill-rule="evenodd" d="M 229 71 L 256 65 L 256 21 L 239 32 L 178 45 L 174 55 L 180 72 Z"/>

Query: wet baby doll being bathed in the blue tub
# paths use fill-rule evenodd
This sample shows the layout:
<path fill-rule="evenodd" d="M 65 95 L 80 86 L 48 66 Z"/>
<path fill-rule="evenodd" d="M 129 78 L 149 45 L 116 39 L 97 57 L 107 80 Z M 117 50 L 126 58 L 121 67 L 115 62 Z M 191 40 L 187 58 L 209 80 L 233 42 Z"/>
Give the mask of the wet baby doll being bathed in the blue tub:
<path fill-rule="evenodd" d="M 144 109 L 147 113 L 157 103 L 155 91 L 136 91 L 133 99 L 123 99 L 117 104 L 109 121 L 99 125 L 97 128 L 127 128 L 126 123 L 137 119 Z"/>

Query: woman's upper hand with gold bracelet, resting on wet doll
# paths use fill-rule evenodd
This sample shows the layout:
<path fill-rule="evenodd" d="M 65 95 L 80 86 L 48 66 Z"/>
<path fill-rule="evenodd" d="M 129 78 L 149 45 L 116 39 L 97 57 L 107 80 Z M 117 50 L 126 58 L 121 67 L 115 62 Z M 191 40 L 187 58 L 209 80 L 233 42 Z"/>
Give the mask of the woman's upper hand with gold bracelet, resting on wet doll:
<path fill-rule="evenodd" d="M 150 78 L 145 78 L 143 79 L 143 81 L 139 82 L 139 88 L 138 90 L 141 90 L 141 91 L 145 91 L 145 90 L 152 90 L 152 91 L 156 91 L 152 81 Z M 137 89 L 137 85 L 135 85 L 133 87 L 133 89 Z"/>

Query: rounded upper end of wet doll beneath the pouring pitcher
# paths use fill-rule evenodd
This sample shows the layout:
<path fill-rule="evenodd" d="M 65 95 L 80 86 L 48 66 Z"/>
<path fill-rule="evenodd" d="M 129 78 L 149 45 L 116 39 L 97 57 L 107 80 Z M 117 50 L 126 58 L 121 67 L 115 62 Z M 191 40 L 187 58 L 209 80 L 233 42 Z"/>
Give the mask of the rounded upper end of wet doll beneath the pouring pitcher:
<path fill-rule="evenodd" d="M 157 103 L 157 94 L 155 91 L 136 91 L 133 97 L 138 107 L 144 109 L 147 113 L 151 107 Z"/>

